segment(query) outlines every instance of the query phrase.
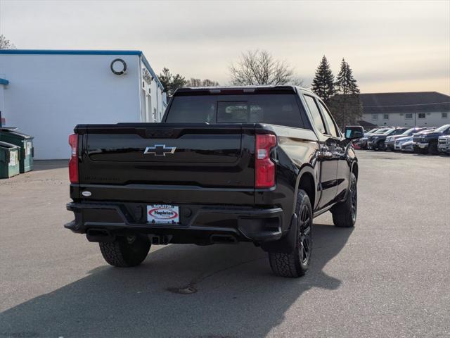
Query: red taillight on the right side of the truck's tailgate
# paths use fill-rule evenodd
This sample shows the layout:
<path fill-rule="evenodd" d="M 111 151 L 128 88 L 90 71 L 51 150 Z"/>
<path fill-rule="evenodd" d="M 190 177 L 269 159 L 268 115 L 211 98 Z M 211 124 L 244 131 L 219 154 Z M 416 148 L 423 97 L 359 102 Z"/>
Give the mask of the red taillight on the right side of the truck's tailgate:
<path fill-rule="evenodd" d="M 270 188 L 275 185 L 275 163 L 270 159 L 270 149 L 276 146 L 271 134 L 256 135 L 255 187 Z"/>

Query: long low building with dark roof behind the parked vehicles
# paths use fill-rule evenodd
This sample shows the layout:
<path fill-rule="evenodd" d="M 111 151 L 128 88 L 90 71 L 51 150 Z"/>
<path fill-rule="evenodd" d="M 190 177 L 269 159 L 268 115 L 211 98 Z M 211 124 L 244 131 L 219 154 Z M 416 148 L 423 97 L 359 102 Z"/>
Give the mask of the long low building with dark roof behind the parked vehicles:
<path fill-rule="evenodd" d="M 450 123 L 450 96 L 438 92 L 360 94 L 362 120 L 379 126 L 440 127 Z"/>

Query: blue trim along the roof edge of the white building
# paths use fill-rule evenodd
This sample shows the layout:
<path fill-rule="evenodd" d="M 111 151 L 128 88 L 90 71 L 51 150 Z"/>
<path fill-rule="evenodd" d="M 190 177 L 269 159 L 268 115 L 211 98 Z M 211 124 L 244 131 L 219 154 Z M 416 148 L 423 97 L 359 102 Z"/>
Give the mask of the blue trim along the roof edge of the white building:
<path fill-rule="evenodd" d="M 146 66 L 147 70 L 150 74 L 155 78 L 156 83 L 158 83 L 158 87 L 161 90 L 164 90 L 164 86 L 158 76 L 153 71 L 153 68 L 150 67 L 150 63 L 148 63 L 147 58 L 143 55 L 142 51 L 118 51 L 118 50 L 64 50 L 64 49 L 1 49 L 0 54 L 16 54 L 16 55 L 137 55 L 141 56 L 143 64 Z"/>

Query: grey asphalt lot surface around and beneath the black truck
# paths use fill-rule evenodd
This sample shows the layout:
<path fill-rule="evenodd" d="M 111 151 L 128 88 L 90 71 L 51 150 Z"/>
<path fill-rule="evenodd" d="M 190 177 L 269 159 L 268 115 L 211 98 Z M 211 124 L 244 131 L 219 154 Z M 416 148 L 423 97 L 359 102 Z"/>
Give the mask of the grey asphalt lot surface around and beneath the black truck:
<path fill-rule="evenodd" d="M 359 158 L 356 227 L 317 218 L 297 280 L 245 244 L 160 246 L 111 268 L 62 227 L 65 163 L 1 180 L 0 337 L 449 337 L 450 158 Z"/>

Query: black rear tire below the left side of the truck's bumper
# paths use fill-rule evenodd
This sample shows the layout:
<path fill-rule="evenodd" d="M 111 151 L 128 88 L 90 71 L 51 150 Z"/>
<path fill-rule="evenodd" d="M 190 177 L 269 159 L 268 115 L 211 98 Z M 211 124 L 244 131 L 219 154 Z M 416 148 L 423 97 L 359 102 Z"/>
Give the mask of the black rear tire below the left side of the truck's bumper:
<path fill-rule="evenodd" d="M 140 235 L 117 237 L 114 242 L 98 244 L 105 261 L 119 268 L 141 264 L 146 259 L 151 245 L 148 237 Z"/>

